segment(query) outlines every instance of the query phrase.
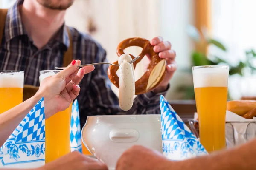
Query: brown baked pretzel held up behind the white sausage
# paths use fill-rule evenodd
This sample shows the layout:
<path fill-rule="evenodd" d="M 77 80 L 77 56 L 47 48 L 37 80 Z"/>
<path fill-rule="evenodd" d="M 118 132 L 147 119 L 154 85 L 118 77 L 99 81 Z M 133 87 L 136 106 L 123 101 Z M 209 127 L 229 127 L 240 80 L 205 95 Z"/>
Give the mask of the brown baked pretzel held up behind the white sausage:
<path fill-rule="evenodd" d="M 118 57 L 125 54 L 125 48 L 131 46 L 139 46 L 143 48 L 139 54 L 140 58 L 133 63 L 134 69 L 136 68 L 137 63 L 140 62 L 146 54 L 149 54 L 151 57 L 151 62 L 148 65 L 147 71 L 135 82 L 135 95 L 144 94 L 154 90 L 160 82 L 162 82 L 166 74 L 166 60 L 161 59 L 158 56 L 158 53 L 154 52 L 150 41 L 143 38 L 129 38 L 120 42 L 116 49 Z M 129 55 L 134 59 L 133 55 Z M 113 64 L 118 64 L 118 61 L 113 62 Z M 117 88 L 119 88 L 119 77 L 116 74 L 118 69 L 119 67 L 113 65 L 110 65 L 108 68 L 108 78 Z"/>

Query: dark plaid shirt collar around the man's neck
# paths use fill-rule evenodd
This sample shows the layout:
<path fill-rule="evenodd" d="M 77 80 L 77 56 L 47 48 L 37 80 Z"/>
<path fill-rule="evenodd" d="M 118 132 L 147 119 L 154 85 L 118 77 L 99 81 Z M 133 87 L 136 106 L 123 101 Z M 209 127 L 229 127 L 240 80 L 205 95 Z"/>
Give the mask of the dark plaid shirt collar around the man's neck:
<path fill-rule="evenodd" d="M 19 6 L 23 4 L 24 0 L 17 0 L 9 9 L 6 15 L 5 22 L 5 38 L 6 42 L 12 40 L 15 37 L 20 35 L 27 35 L 27 31 L 23 26 Z M 63 24 L 63 26 L 59 29 L 55 37 L 52 39 L 53 41 L 57 41 L 59 43 L 64 44 L 67 48 L 70 45 L 70 40 L 67 32 L 67 26 Z"/>

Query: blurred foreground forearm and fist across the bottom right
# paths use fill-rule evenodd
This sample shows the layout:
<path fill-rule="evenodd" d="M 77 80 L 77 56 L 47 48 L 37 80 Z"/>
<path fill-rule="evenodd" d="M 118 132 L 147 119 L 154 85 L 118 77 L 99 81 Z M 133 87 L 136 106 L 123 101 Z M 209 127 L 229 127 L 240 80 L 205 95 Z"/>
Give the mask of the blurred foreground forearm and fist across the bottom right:
<path fill-rule="evenodd" d="M 162 153 L 133 146 L 122 153 L 116 170 L 254 170 L 255 155 L 256 139 L 233 149 L 184 161 L 170 161 Z"/>

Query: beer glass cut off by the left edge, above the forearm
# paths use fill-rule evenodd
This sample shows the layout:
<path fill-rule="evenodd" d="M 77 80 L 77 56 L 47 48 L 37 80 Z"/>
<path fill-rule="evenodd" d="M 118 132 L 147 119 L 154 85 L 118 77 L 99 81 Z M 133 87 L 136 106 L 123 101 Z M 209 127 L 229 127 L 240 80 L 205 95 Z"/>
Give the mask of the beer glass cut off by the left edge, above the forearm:
<path fill-rule="evenodd" d="M 23 71 L 0 71 L 0 114 L 22 102 L 23 86 Z"/>

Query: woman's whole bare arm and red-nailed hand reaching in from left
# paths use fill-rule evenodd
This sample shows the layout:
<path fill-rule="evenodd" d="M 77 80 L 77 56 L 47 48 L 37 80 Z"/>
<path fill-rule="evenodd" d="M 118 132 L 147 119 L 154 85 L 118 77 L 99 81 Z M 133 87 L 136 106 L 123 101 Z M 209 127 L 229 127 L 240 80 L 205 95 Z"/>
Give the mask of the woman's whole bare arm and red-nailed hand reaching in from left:
<path fill-rule="evenodd" d="M 42 97 L 44 97 L 45 119 L 69 107 L 79 95 L 80 87 L 77 84 L 84 74 L 94 69 L 93 66 L 87 66 L 77 70 L 78 64 L 80 65 L 80 60 L 73 60 L 63 71 L 45 78 L 35 96 L 0 114 L 0 146 Z"/>

